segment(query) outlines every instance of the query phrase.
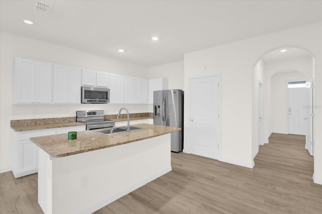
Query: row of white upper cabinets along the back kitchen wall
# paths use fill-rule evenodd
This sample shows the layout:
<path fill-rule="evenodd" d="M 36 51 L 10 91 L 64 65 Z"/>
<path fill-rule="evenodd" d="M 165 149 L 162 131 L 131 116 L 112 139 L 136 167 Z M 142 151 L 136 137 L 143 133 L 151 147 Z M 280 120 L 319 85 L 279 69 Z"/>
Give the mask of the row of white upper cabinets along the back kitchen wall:
<path fill-rule="evenodd" d="M 17 57 L 14 103 L 81 103 L 81 86 L 107 87 L 110 104 L 147 104 L 166 79 L 144 79 Z M 151 96 L 151 98 L 149 98 Z"/>

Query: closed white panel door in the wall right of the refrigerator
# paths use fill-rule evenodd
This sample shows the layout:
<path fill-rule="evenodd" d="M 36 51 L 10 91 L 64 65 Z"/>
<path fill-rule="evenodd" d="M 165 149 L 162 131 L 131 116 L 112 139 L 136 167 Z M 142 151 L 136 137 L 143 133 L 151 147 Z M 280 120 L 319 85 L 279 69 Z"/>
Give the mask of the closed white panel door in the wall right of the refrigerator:
<path fill-rule="evenodd" d="M 191 153 L 219 159 L 219 77 L 190 80 Z"/>

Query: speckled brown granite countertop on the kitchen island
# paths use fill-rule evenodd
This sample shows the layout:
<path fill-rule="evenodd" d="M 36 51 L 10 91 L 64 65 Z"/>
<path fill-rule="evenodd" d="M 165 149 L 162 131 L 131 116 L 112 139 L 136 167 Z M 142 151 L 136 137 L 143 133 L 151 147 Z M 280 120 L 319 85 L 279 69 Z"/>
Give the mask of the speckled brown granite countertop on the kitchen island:
<path fill-rule="evenodd" d="M 77 139 L 70 141 L 68 134 L 35 137 L 30 138 L 30 140 L 51 157 L 57 158 L 132 143 L 181 130 L 181 128 L 176 127 L 150 124 L 137 124 L 135 127 L 143 129 L 114 135 L 83 131 L 77 132 Z"/>

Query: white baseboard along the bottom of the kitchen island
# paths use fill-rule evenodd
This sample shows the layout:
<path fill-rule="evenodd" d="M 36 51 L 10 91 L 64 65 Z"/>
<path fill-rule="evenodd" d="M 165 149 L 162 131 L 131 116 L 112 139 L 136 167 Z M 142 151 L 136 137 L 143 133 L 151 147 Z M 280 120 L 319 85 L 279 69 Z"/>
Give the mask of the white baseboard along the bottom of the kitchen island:
<path fill-rule="evenodd" d="M 159 173 L 145 179 L 144 181 L 141 181 L 133 186 L 131 186 L 130 188 L 124 190 L 123 192 L 120 192 L 119 194 L 117 195 L 113 195 L 112 197 L 109 197 L 109 198 L 106 198 L 105 200 L 103 201 L 100 201 L 96 204 L 94 204 L 93 206 L 89 207 L 87 210 L 84 210 L 83 213 L 93 213 L 97 210 L 99 210 L 100 208 L 106 206 L 107 204 L 109 203 L 112 203 L 113 201 L 123 197 L 124 195 L 127 195 L 128 193 L 134 191 L 135 189 L 138 189 L 140 188 L 141 186 L 144 186 L 145 184 L 147 184 L 148 182 L 151 182 L 152 180 L 162 176 L 162 175 L 165 175 L 167 174 L 168 172 L 172 171 L 172 167 L 170 166 L 169 168 L 165 169 L 165 170 L 162 170 L 160 171 Z"/>

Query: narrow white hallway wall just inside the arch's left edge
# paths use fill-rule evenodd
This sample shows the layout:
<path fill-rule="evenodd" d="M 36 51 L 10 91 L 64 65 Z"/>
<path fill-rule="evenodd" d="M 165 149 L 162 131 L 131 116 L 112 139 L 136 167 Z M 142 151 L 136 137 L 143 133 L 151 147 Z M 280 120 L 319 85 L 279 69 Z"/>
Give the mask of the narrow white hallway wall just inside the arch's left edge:
<path fill-rule="evenodd" d="M 252 125 L 252 138 L 254 139 L 252 142 L 252 155 L 253 158 L 258 153 L 258 123 L 259 123 L 259 83 L 264 84 L 264 62 L 260 60 L 255 68 L 254 68 L 254 77 L 253 77 L 253 125 Z M 265 85 L 263 85 L 265 87 Z M 265 105 L 265 104 L 264 104 Z M 265 111 L 265 110 L 264 110 Z M 265 123 L 265 118 L 263 119 L 263 123 Z M 257 139 L 257 141 L 256 141 Z"/>

